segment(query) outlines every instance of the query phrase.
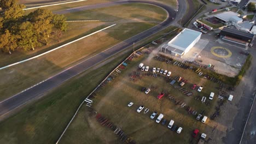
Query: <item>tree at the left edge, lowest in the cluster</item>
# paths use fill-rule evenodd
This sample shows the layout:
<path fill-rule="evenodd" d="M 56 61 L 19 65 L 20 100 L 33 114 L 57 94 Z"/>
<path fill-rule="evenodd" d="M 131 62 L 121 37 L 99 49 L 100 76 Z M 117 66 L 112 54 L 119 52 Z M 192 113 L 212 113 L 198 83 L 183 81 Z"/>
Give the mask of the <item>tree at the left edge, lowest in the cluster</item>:
<path fill-rule="evenodd" d="M 14 51 L 17 47 L 16 37 L 11 34 L 8 30 L 4 32 L 4 34 L 0 35 L 0 49 L 4 52 Z"/>

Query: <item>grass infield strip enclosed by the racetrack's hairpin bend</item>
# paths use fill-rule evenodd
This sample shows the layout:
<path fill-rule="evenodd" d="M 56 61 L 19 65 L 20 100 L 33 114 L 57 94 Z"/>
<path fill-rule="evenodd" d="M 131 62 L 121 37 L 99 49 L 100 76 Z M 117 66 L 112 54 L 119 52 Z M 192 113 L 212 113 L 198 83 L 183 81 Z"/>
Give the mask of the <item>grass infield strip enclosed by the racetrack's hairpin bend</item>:
<path fill-rule="evenodd" d="M 133 7 L 134 11 L 133 13 L 128 13 L 131 7 Z M 116 11 L 120 8 L 123 8 L 124 15 L 116 14 Z M 40 58 L 1 70 L 0 99 L 3 100 L 11 95 L 19 93 L 20 91 L 59 73 L 61 70 L 72 64 L 78 63 L 82 59 L 90 58 L 133 35 L 143 32 L 163 21 L 166 17 L 164 10 L 145 4 L 125 4 L 119 5 L 119 7 L 95 9 L 94 16 L 104 14 L 103 12 L 97 12 L 104 10 L 109 11 L 109 16 L 118 17 L 117 19 L 119 21 L 117 21 L 117 26 L 48 53 Z M 90 13 L 92 14 L 92 12 Z M 68 15 L 68 17 L 74 15 L 76 15 L 76 13 Z M 88 17 L 88 15 L 81 15 L 80 17 Z M 92 26 L 93 23 L 94 22 L 89 22 L 88 25 Z M 99 23 L 99 26 L 96 28 L 99 29 L 112 24 L 113 22 L 108 22 L 105 25 Z M 83 25 L 86 24 L 79 22 L 79 25 L 77 26 L 86 27 Z M 75 31 L 79 31 L 79 27 L 75 28 Z M 8 55 L 8 57 L 10 56 Z M 7 61 L 7 58 L 3 59 Z M 28 69 L 27 65 L 31 69 Z M 8 74 L 8 77 L 5 76 L 6 74 Z M 11 86 L 12 88 L 6 87 L 6 85 Z"/>

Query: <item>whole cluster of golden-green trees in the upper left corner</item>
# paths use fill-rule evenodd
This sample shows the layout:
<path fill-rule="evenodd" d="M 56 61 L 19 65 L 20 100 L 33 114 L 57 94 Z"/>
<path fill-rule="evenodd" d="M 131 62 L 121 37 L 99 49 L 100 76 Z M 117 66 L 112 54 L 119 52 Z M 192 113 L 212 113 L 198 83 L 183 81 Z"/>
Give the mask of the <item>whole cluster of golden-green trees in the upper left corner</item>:
<path fill-rule="evenodd" d="M 0 49 L 10 53 L 15 50 L 34 50 L 48 44 L 55 36 L 60 41 L 67 29 L 66 17 L 53 14 L 48 9 L 37 9 L 25 15 L 25 5 L 18 0 L 0 1 Z"/>

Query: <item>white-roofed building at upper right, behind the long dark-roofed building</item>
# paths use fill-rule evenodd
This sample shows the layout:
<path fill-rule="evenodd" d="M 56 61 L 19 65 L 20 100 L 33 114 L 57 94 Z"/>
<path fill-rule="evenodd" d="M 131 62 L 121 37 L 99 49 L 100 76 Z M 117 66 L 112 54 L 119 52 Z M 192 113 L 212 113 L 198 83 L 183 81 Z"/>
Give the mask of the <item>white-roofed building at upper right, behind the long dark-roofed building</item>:
<path fill-rule="evenodd" d="M 233 11 L 226 11 L 224 13 L 214 15 L 215 19 L 217 19 L 218 21 L 220 21 L 222 23 L 227 23 L 229 21 L 240 23 L 243 20 L 238 16 L 240 16 L 240 14 L 237 14 Z"/>

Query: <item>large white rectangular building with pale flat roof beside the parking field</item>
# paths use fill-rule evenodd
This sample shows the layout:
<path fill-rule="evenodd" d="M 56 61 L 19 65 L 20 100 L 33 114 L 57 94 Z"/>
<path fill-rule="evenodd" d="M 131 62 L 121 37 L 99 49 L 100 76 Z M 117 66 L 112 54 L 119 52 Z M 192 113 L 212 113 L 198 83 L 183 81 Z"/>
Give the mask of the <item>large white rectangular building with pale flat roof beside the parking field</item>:
<path fill-rule="evenodd" d="M 201 38 L 201 32 L 185 28 L 181 33 L 176 35 L 168 44 L 161 47 L 171 52 L 171 55 L 182 57 L 185 55 Z"/>

